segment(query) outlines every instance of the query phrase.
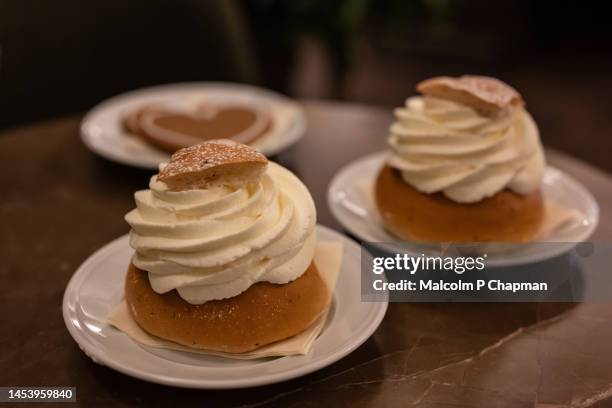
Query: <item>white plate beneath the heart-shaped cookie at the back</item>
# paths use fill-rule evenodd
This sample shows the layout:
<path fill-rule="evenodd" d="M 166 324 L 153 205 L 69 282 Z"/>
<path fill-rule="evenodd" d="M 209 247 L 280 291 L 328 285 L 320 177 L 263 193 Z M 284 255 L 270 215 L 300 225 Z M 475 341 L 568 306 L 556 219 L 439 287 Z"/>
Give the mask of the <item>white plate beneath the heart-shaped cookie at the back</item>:
<path fill-rule="evenodd" d="M 91 151 L 106 159 L 128 166 L 157 169 L 160 162 L 168 160 L 169 154 L 126 132 L 122 125 L 123 117 L 152 103 L 184 106 L 207 99 L 268 104 L 278 120 L 275 130 L 259 147 L 267 156 L 293 145 L 306 130 L 303 109 L 279 93 L 242 84 L 193 82 L 143 88 L 107 99 L 85 115 L 81 122 L 81 139 Z"/>

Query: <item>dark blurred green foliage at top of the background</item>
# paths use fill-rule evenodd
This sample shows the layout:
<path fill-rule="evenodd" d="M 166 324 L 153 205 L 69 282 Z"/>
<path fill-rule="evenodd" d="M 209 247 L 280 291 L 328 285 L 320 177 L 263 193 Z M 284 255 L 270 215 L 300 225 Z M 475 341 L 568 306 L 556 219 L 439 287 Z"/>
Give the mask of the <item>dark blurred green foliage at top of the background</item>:
<path fill-rule="evenodd" d="M 299 36 L 316 36 L 330 51 L 338 76 L 350 68 L 366 23 L 375 22 L 392 37 L 418 21 L 447 22 L 452 14 L 450 0 L 246 0 L 246 5 L 266 47 L 291 53 Z"/>

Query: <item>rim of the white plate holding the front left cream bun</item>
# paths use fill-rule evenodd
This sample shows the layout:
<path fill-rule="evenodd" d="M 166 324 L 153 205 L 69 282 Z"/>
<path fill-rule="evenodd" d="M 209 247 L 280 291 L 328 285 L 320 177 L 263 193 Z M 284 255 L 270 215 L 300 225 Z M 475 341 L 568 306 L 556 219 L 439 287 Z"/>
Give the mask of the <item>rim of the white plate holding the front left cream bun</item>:
<path fill-rule="evenodd" d="M 355 242 L 350 237 L 347 237 L 344 234 L 341 234 L 338 231 L 335 231 L 329 227 L 317 224 L 317 228 L 322 229 L 325 233 L 330 233 L 332 236 L 342 240 L 345 245 L 344 252 L 347 252 L 347 248 L 352 247 L 353 251 L 359 251 L 360 246 L 357 242 Z M 107 244 L 100 247 L 94 253 L 92 253 L 85 261 L 83 261 L 79 267 L 75 270 L 70 280 L 68 281 L 66 288 L 64 290 L 64 295 L 62 298 L 62 317 L 64 319 L 64 324 L 70 333 L 70 336 L 77 343 L 81 351 L 85 353 L 91 360 L 95 363 L 105 365 L 109 368 L 112 368 L 115 371 L 118 371 L 122 374 L 129 375 L 134 378 L 138 378 L 144 381 L 153 382 L 157 384 L 169 385 L 180 388 L 191 388 L 191 389 L 238 389 L 238 388 L 250 388 L 268 384 L 275 384 L 283 381 L 287 381 L 290 379 L 294 379 L 297 377 L 301 377 L 307 374 L 310 374 L 314 371 L 320 370 L 324 367 L 327 367 L 334 362 L 346 357 L 348 354 L 355 351 L 359 346 L 365 343 L 374 332 L 378 329 L 382 320 L 384 319 L 387 308 L 388 308 L 388 299 L 387 301 L 378 301 L 378 302 L 364 302 L 369 303 L 372 306 L 373 317 L 371 321 L 367 324 L 364 324 L 364 328 L 361 330 L 357 330 L 354 332 L 354 336 L 351 337 L 351 341 L 347 346 L 344 346 L 335 354 L 327 355 L 317 360 L 311 361 L 307 364 L 295 367 L 290 369 L 288 372 L 281 373 L 271 373 L 265 376 L 257 376 L 251 377 L 248 379 L 240 379 L 237 381 L 228 381 L 227 379 L 218 380 L 218 379 L 193 379 L 193 378 L 177 378 L 176 376 L 151 376 L 143 370 L 134 369 L 129 365 L 122 364 L 118 362 L 116 359 L 109 358 L 107 353 L 98 349 L 95 344 L 92 344 L 87 336 L 81 333 L 80 330 L 76 328 L 76 326 L 72 323 L 72 315 L 70 314 L 69 304 L 71 301 L 75 300 L 74 296 L 76 294 L 75 289 L 82 283 L 84 277 L 83 271 L 86 271 L 90 268 L 90 265 L 99 262 L 100 258 L 103 258 L 109 251 L 111 251 L 114 247 L 120 245 L 122 240 L 126 240 L 128 234 L 122 235 L 118 238 L 113 239 Z M 361 300 L 360 300 L 361 301 Z M 363 301 L 362 301 L 363 302 Z M 134 341 L 132 339 L 127 339 L 127 341 Z M 145 349 L 146 351 L 146 349 Z M 282 357 L 291 358 L 292 356 Z M 301 356 L 295 356 L 297 358 Z M 279 360 L 281 360 L 279 359 Z M 225 369 L 225 368 L 224 368 Z M 231 370 L 231 367 L 227 367 L 228 370 Z M 236 369 L 240 370 L 241 367 L 237 367 Z"/>

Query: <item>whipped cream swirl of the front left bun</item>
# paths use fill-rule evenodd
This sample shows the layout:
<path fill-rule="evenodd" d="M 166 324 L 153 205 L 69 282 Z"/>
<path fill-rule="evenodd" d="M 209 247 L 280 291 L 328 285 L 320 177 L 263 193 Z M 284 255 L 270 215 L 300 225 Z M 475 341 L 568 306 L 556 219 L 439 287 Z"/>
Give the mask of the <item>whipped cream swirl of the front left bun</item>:
<path fill-rule="evenodd" d="M 135 199 L 125 217 L 134 265 L 149 272 L 155 292 L 176 289 L 191 304 L 236 296 L 256 282 L 290 282 L 314 256 L 312 197 L 272 162 L 242 188 L 173 192 L 153 176 Z"/>

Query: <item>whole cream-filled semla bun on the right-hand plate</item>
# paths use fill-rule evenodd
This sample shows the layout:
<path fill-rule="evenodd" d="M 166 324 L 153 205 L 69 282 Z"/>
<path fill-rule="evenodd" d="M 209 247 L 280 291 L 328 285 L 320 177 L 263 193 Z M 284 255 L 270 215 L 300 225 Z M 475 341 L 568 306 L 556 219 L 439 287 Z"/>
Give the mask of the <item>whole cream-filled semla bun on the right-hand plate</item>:
<path fill-rule="evenodd" d="M 544 218 L 545 159 L 519 93 L 494 78 L 436 77 L 396 109 L 375 199 L 418 242 L 525 242 Z"/>

